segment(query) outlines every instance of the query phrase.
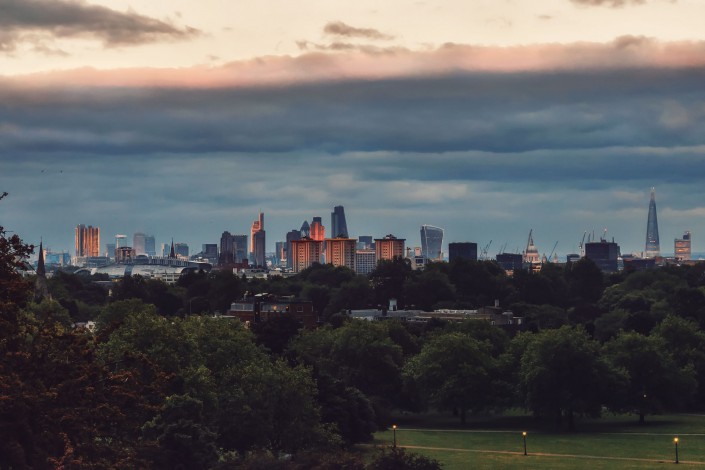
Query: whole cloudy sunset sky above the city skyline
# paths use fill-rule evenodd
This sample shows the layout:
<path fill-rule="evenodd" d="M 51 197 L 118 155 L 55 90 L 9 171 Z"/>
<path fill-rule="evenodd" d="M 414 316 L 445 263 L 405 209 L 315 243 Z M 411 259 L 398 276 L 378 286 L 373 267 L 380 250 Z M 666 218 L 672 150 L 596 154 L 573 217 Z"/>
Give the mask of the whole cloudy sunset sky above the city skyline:
<path fill-rule="evenodd" d="M 705 1 L 0 0 L 0 225 L 705 251 Z M 491 244 L 490 244 L 491 242 Z M 447 252 L 447 248 L 444 250 Z"/>

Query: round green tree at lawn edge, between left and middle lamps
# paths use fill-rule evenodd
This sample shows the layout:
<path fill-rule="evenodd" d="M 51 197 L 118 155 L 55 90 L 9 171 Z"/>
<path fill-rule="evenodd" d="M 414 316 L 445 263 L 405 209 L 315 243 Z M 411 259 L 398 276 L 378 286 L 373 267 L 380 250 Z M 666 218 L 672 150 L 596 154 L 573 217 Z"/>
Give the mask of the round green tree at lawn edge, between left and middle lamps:
<path fill-rule="evenodd" d="M 489 344 L 463 333 L 433 336 L 404 366 L 404 376 L 438 408 L 459 412 L 461 424 L 468 410 L 487 410 L 497 403 L 496 371 Z"/>

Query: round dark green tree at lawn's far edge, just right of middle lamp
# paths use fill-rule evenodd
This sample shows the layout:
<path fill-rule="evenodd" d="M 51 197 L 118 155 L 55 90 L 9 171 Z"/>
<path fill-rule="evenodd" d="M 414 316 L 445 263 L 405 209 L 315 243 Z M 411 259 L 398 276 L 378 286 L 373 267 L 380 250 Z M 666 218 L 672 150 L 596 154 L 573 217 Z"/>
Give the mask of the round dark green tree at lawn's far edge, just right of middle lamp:
<path fill-rule="evenodd" d="M 521 359 L 520 380 L 529 409 L 552 417 L 558 427 L 565 419 L 573 431 L 575 415 L 600 415 L 615 372 L 583 328 L 563 326 L 532 337 Z"/>

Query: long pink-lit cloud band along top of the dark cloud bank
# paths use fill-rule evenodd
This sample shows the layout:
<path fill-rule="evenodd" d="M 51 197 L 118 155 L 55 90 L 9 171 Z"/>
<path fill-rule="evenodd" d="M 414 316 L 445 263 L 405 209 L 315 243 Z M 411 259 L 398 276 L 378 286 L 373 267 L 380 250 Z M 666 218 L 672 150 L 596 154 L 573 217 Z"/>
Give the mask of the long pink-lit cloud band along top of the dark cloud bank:
<path fill-rule="evenodd" d="M 541 44 L 488 47 L 445 44 L 433 50 L 402 48 L 309 52 L 297 57 L 253 60 L 189 68 L 81 68 L 6 81 L 27 86 L 251 87 L 336 80 L 373 80 L 472 72 L 532 72 L 617 68 L 705 66 L 705 41 L 659 42 L 624 36 L 609 43 Z"/>

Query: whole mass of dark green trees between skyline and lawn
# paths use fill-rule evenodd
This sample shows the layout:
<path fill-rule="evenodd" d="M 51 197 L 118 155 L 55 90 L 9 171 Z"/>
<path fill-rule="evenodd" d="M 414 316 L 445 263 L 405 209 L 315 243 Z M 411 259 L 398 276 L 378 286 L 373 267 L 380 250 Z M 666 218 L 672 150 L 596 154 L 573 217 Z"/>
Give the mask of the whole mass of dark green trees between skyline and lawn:
<path fill-rule="evenodd" d="M 583 416 L 643 422 L 705 404 L 702 265 L 603 275 L 589 260 L 513 277 L 492 262 L 403 260 L 369 276 L 314 266 L 292 278 L 126 277 L 111 290 L 58 272 L 32 299 L 0 237 L 0 467 L 389 468 L 437 463 L 344 452 L 392 413 L 530 410 L 571 430 Z M 245 293 L 294 295 L 324 319 L 213 317 Z M 477 308 L 499 300 L 521 329 L 483 321 L 352 320 L 349 309 Z M 93 319 L 95 333 L 72 324 Z M 386 460 L 385 460 L 386 459 Z M 397 467 L 395 467 L 397 468 Z"/>

